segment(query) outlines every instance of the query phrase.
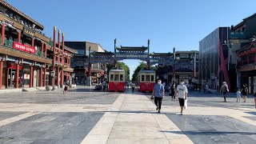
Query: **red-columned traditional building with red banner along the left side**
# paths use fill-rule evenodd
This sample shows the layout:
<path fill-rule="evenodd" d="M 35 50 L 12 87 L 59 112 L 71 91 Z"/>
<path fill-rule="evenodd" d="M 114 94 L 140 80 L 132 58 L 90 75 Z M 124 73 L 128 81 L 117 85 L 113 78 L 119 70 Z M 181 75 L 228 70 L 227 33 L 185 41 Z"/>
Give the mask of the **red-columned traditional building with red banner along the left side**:
<path fill-rule="evenodd" d="M 42 34 L 44 26 L 5 1 L 0 1 L 0 89 L 63 85 L 73 69 L 76 50 L 64 46 L 56 27 L 54 40 Z M 56 71 L 50 78 L 50 71 Z"/>

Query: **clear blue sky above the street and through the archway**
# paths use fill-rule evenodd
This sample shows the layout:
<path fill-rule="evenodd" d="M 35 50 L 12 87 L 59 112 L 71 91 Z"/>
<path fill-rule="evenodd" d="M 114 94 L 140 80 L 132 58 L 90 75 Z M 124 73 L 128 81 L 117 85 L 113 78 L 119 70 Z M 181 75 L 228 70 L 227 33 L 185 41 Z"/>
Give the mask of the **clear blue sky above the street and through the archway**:
<path fill-rule="evenodd" d="M 66 41 L 101 43 L 114 51 L 146 46 L 150 52 L 198 50 L 198 42 L 218 26 L 231 26 L 256 12 L 255 0 L 6 0 L 45 26 L 65 33 Z M 126 61 L 131 73 L 138 60 Z"/>

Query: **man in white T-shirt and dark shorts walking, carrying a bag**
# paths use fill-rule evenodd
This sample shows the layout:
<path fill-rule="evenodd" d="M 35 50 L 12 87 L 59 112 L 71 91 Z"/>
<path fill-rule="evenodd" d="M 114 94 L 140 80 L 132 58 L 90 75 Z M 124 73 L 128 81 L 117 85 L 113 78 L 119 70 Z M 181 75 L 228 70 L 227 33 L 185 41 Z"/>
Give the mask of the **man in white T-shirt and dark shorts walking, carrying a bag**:
<path fill-rule="evenodd" d="M 183 80 L 181 80 L 180 85 L 177 86 L 177 93 L 178 93 L 179 106 L 181 107 L 181 114 L 183 114 L 184 103 L 188 94 L 187 88 L 184 85 Z"/>

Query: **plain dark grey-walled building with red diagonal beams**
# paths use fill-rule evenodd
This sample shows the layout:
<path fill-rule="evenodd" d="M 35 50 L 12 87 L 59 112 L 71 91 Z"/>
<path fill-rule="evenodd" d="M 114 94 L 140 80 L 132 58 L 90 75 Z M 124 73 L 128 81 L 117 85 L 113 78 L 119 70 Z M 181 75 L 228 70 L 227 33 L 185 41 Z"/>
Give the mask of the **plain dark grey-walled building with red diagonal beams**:
<path fill-rule="evenodd" d="M 237 89 L 236 70 L 230 69 L 229 27 L 218 27 L 199 42 L 199 82 L 219 90 L 226 82 L 231 91 Z"/>

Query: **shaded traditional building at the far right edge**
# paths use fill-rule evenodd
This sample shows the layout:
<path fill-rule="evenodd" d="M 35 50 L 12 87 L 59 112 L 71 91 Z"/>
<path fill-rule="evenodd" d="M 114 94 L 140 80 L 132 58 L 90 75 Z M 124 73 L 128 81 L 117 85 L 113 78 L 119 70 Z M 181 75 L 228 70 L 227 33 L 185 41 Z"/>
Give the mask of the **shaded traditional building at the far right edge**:
<path fill-rule="evenodd" d="M 230 59 L 236 65 L 237 86 L 246 84 L 249 94 L 256 92 L 256 14 L 244 18 L 236 26 L 231 26 Z"/>

